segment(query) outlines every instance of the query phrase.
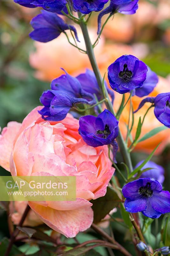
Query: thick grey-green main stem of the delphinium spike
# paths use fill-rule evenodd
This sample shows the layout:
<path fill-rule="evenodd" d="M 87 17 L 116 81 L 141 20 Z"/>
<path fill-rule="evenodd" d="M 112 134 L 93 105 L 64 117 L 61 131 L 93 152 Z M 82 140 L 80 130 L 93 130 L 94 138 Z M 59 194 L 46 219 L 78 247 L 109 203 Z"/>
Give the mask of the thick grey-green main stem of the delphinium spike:
<path fill-rule="evenodd" d="M 81 13 L 79 13 L 79 18 L 81 18 Z M 85 23 L 85 20 L 81 20 L 80 26 L 81 26 L 81 30 L 82 30 L 82 33 L 83 33 L 83 36 L 84 36 L 84 41 L 85 41 L 85 44 L 86 44 L 87 54 L 89 56 L 89 60 L 90 60 L 91 66 L 93 68 L 93 71 L 95 73 L 97 82 L 99 84 L 100 91 L 103 94 L 103 98 L 104 98 L 104 94 L 105 94 L 106 97 L 109 99 L 106 87 L 105 87 L 105 92 L 104 93 L 103 93 L 103 90 L 102 90 L 102 81 L 103 81 L 103 79 L 102 79 L 102 76 L 100 74 L 97 62 L 96 62 L 96 58 L 95 58 L 95 55 L 94 55 L 93 47 L 92 47 L 92 44 L 91 44 L 91 41 L 90 41 L 90 37 L 89 37 L 89 33 L 88 33 L 88 29 L 87 29 L 87 25 Z M 110 110 L 110 112 L 112 112 L 115 115 L 111 101 L 108 100 L 107 102 L 105 102 L 105 104 L 106 104 L 107 108 Z M 128 152 L 127 145 L 124 142 L 124 139 L 123 139 L 123 136 L 122 136 L 120 130 L 119 130 L 119 135 L 117 137 L 117 142 L 119 144 L 120 152 L 123 156 L 124 162 L 129 167 L 130 172 L 132 172 L 133 167 L 132 167 L 132 163 L 131 163 L 131 156 Z"/>

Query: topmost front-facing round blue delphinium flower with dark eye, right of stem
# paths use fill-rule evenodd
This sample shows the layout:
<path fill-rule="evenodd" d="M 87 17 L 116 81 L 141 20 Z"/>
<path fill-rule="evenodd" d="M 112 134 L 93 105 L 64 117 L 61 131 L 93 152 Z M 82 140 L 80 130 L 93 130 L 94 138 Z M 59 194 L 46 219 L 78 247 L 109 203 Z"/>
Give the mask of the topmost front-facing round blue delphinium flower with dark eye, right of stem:
<path fill-rule="evenodd" d="M 133 55 L 123 55 L 108 67 L 111 88 L 121 94 L 143 86 L 148 68 Z"/>

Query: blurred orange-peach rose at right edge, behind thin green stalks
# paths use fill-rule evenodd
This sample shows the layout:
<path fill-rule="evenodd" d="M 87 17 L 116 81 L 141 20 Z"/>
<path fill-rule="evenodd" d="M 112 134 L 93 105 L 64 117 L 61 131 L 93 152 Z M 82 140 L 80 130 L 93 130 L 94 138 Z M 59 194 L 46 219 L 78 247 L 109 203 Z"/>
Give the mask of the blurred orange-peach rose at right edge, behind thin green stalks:
<path fill-rule="evenodd" d="M 138 108 L 139 103 L 142 101 L 142 99 L 144 99 L 146 97 L 156 97 L 159 93 L 168 92 L 168 90 L 169 90 L 169 81 L 166 78 L 159 76 L 158 84 L 156 85 L 154 90 L 148 96 L 145 96 L 143 98 L 139 98 L 137 96 L 132 97 L 133 109 L 136 110 Z M 114 106 L 117 106 L 117 108 L 118 108 L 118 106 L 120 105 L 122 96 L 118 93 L 115 93 L 115 95 L 116 95 L 116 97 L 115 97 Z M 127 98 L 129 97 L 129 93 L 126 93 L 125 97 L 127 100 Z M 137 113 L 134 114 L 134 126 L 133 126 L 133 129 L 131 132 L 133 139 L 135 138 L 139 117 L 141 116 L 141 118 L 143 118 L 143 116 L 146 113 L 149 106 L 151 106 L 151 103 L 146 103 Z M 126 132 L 127 132 L 126 124 L 128 124 L 129 107 L 130 107 L 130 102 L 124 108 L 124 111 L 119 120 L 119 128 L 122 131 L 124 138 L 126 137 Z M 158 121 L 158 119 L 155 117 L 154 108 L 151 108 L 145 117 L 145 121 L 142 126 L 142 131 L 141 131 L 140 137 L 144 136 L 147 132 L 150 132 L 152 129 L 157 128 L 159 126 L 163 126 L 163 124 L 161 124 Z M 156 154 L 159 154 L 160 152 L 162 152 L 162 150 L 165 148 L 165 146 L 168 143 L 170 143 L 170 133 L 169 133 L 168 129 L 161 131 L 161 132 L 159 132 L 159 134 L 156 134 L 156 135 L 152 136 L 151 138 L 138 143 L 137 146 L 135 147 L 135 150 L 144 151 L 146 153 L 151 153 L 152 150 L 154 148 L 156 148 L 156 146 L 160 142 L 161 142 L 161 144 L 160 144 L 159 148 L 157 149 L 157 151 L 155 152 Z"/>

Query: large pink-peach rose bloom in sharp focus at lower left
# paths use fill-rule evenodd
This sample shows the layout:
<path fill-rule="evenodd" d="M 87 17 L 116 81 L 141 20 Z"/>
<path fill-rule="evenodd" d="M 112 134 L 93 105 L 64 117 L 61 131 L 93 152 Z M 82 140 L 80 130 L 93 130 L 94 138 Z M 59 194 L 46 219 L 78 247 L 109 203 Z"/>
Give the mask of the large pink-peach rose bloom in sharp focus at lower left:
<path fill-rule="evenodd" d="M 0 164 L 12 176 L 76 176 L 76 201 L 28 202 L 53 230 L 74 237 L 93 222 L 91 199 L 104 196 L 114 173 L 107 146 L 88 146 L 78 120 L 68 114 L 47 122 L 37 107 L 22 124 L 10 122 L 0 135 Z"/>

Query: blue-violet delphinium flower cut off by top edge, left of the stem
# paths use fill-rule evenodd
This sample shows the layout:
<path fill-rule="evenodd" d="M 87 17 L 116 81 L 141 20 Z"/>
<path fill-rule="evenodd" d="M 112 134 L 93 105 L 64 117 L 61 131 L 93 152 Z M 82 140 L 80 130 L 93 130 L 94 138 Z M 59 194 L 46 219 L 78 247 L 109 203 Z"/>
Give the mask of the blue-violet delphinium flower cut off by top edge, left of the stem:
<path fill-rule="evenodd" d="M 42 7 L 48 12 L 60 12 L 67 4 L 66 0 L 14 0 L 15 3 L 25 7 Z"/>

